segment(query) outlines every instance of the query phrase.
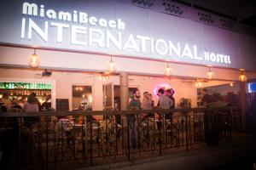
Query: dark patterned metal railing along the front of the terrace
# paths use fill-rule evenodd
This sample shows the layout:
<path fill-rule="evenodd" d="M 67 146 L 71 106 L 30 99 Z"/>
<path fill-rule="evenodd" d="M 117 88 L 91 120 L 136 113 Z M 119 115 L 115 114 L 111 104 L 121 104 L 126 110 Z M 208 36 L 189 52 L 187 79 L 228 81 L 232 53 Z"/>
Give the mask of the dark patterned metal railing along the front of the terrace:
<path fill-rule="evenodd" d="M 1 166 L 56 168 L 161 156 L 195 144 L 230 144 L 230 108 L 1 113 Z M 95 120 L 93 116 L 102 116 Z"/>

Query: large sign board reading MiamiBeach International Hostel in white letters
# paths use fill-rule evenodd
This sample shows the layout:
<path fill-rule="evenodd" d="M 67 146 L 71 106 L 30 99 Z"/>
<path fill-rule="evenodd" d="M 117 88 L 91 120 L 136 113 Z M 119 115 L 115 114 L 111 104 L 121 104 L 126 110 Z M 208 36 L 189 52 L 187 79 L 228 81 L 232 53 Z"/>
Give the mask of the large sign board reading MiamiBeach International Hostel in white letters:
<path fill-rule="evenodd" d="M 239 68 L 237 35 L 113 0 L 3 0 L 0 42 Z M 230 41 L 225 38 L 231 37 Z M 229 44 L 230 43 L 230 44 Z"/>

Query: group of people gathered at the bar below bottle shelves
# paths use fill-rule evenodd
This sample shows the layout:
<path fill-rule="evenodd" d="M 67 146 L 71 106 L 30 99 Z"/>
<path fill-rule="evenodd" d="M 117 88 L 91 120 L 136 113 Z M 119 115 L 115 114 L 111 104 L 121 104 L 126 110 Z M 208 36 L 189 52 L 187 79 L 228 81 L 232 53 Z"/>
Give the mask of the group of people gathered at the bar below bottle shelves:
<path fill-rule="evenodd" d="M 51 107 L 50 99 L 51 99 L 51 96 L 48 95 L 46 97 L 45 102 L 41 105 L 35 93 L 29 94 L 27 97 L 27 100 L 26 100 L 26 97 L 24 96 L 20 100 L 16 98 L 9 99 L 9 94 L 3 93 L 2 102 L 0 102 L 1 103 L 0 109 L 2 112 L 47 111 Z"/>

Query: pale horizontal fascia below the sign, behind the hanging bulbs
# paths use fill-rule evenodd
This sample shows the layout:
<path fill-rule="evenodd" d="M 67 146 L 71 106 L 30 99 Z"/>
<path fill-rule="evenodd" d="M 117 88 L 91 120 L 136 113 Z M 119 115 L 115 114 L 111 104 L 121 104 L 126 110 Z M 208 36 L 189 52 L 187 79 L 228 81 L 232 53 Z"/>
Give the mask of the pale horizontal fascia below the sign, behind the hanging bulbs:
<path fill-rule="evenodd" d="M 27 67 L 28 58 L 33 50 L 29 48 L 12 48 L 0 46 L 0 65 Z M 41 68 L 51 68 L 68 71 L 106 71 L 109 56 L 96 54 L 79 54 L 60 51 L 37 50 L 41 60 Z M 131 74 L 162 76 L 165 62 L 145 59 L 130 59 L 114 57 L 117 71 L 128 71 Z M 178 77 L 207 78 L 208 68 L 199 65 L 170 64 L 172 75 Z M 212 68 L 214 78 L 220 80 L 237 81 L 240 74 L 236 70 Z M 247 78 L 256 78 L 256 72 L 247 72 Z"/>

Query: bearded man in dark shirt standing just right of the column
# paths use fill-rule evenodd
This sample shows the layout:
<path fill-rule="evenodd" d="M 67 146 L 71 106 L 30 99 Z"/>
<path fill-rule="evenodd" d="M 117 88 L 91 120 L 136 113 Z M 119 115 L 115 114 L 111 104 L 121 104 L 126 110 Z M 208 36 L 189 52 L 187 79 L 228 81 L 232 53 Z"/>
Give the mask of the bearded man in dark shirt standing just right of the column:
<path fill-rule="evenodd" d="M 129 104 L 129 109 L 130 110 L 141 110 L 142 109 L 142 104 L 140 101 L 141 98 L 141 93 L 138 89 L 133 91 L 133 98 L 131 99 L 131 102 Z M 131 128 L 131 146 L 132 148 L 137 147 L 137 122 L 136 122 L 136 117 L 134 114 L 127 115 L 127 119 L 129 122 L 129 126 Z"/>

